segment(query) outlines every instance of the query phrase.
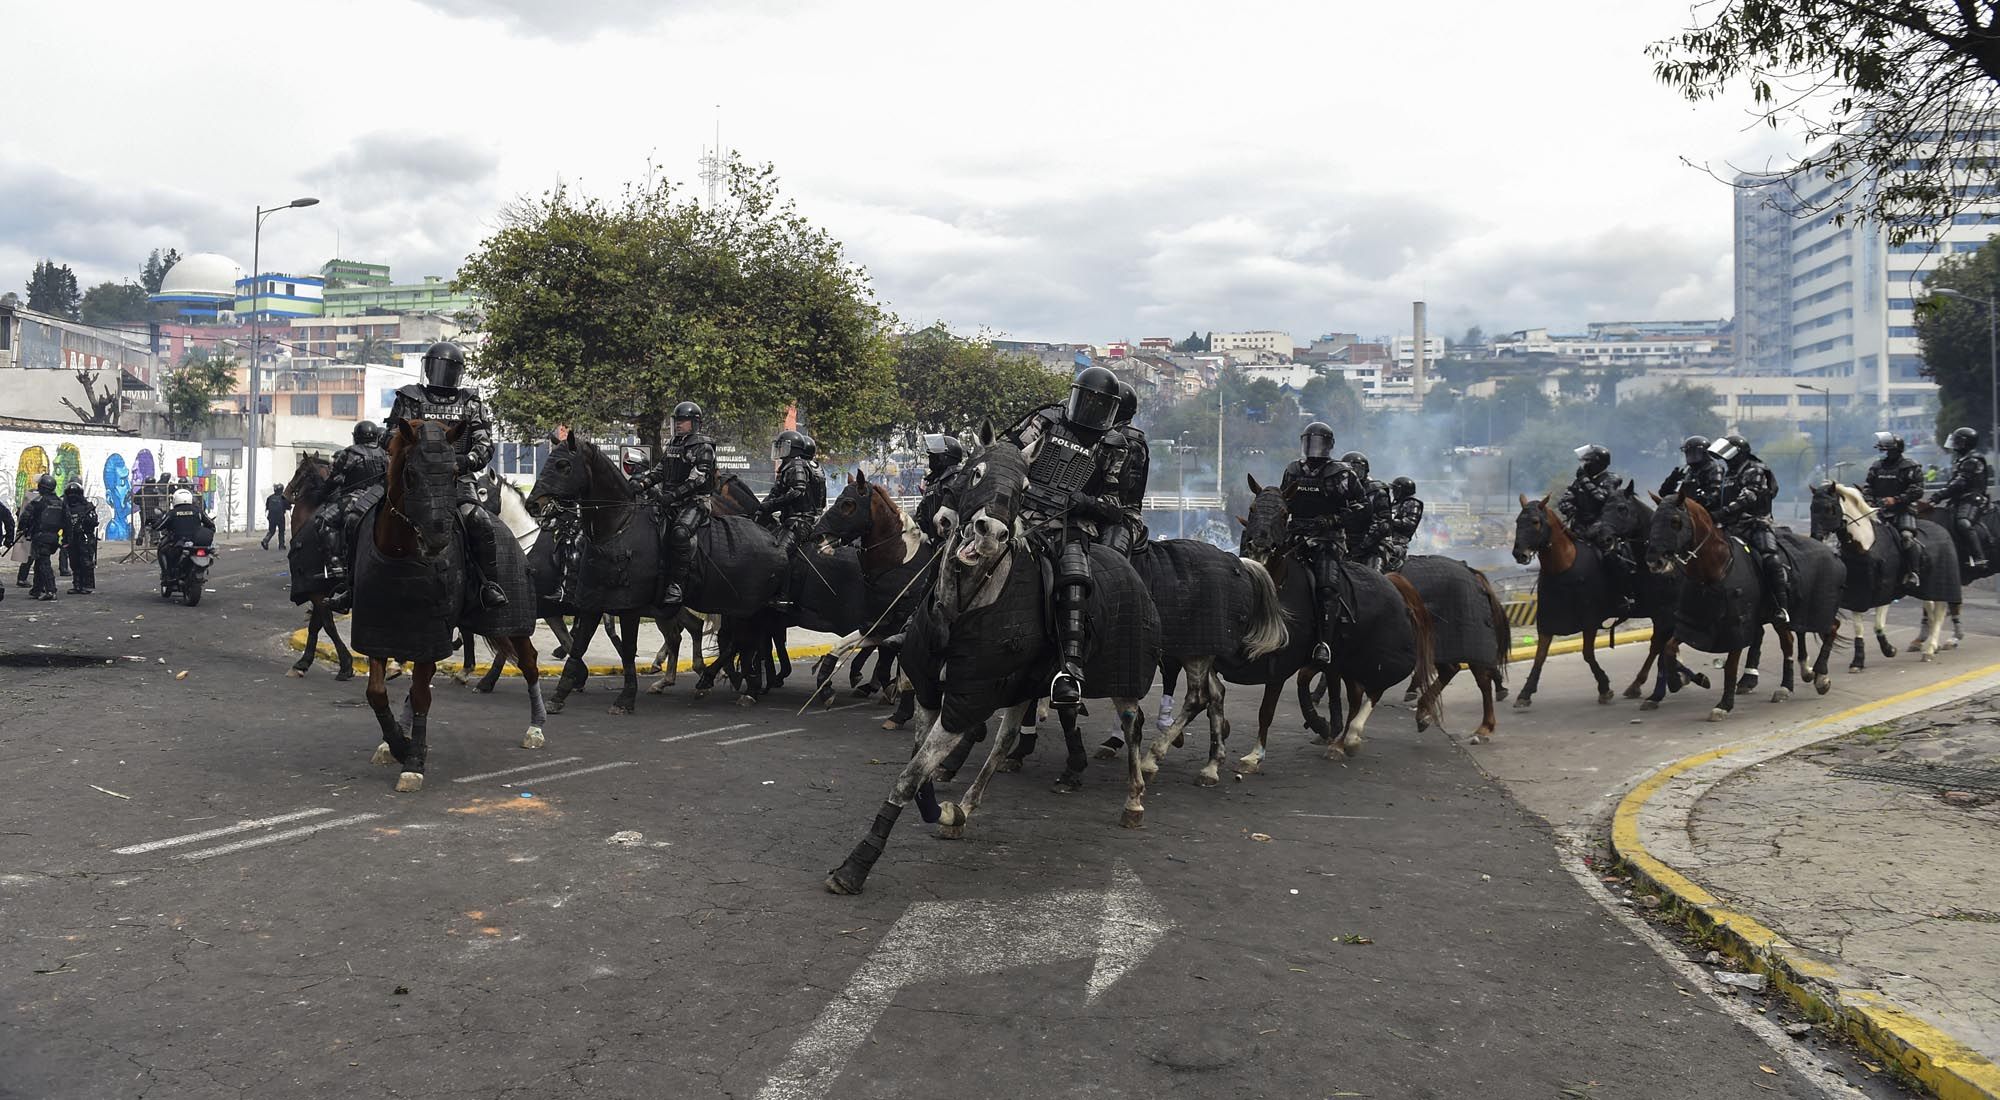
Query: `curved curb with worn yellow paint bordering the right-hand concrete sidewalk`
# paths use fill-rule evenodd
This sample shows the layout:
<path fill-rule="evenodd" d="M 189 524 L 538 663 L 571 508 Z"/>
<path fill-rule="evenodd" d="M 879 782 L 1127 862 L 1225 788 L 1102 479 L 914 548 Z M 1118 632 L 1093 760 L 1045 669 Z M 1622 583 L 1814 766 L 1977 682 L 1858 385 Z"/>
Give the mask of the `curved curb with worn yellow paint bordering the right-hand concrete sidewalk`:
<path fill-rule="evenodd" d="M 1988 664 L 1924 688 L 1852 706 L 1790 730 L 1676 760 L 1632 788 L 1618 802 L 1618 810 L 1612 816 L 1612 852 L 1634 878 L 1664 898 L 1666 908 L 1684 920 L 1688 928 L 1714 934 L 1722 940 L 1726 954 L 1766 974 L 1772 986 L 1808 1016 L 1832 1022 L 1866 1050 L 1896 1066 L 1904 1076 L 1920 1082 L 1938 1100 L 2000 1100 L 2000 1066 L 1936 1026 L 1926 1024 L 1880 992 L 1850 984 L 1852 976 L 1844 976 L 1838 966 L 1822 960 L 1816 952 L 1788 942 L 1776 930 L 1766 928 L 1748 914 L 1726 908 L 1722 898 L 1716 898 L 1698 882 L 1668 866 L 1648 848 L 1648 838 L 1656 842 L 1654 848 L 1666 848 L 1672 836 L 1668 834 L 1666 842 L 1662 842 L 1662 830 L 1656 824 L 1642 822 L 1642 816 L 1656 814 L 1658 810 L 1648 804 L 1666 792 L 1662 802 L 1674 804 L 1668 812 L 1678 816 L 1684 828 L 1688 816 L 1694 812 L 1694 802 L 1702 794 L 1754 762 L 1730 758 L 1754 756 L 1756 760 L 1770 760 L 1784 756 L 1808 744 L 1848 734 L 1866 724 L 1862 718 L 1880 720 L 1884 718 L 1882 710 L 1908 714 L 1938 702 L 1950 702 L 1950 698 L 1966 698 L 1978 690 L 1990 690 L 1990 680 L 1996 674 L 2000 674 L 2000 664 Z M 1954 688 L 1964 690 L 1954 692 Z M 1940 694 L 1950 698 L 1932 698 Z M 1724 760 L 1728 764 L 1716 766 Z M 1702 780 L 1688 780 L 1682 788 L 1668 790 L 1670 784 L 1700 768 L 1708 768 L 1708 774 L 1714 776 L 1712 782 L 1692 790 L 1692 794 L 1688 788 Z"/>

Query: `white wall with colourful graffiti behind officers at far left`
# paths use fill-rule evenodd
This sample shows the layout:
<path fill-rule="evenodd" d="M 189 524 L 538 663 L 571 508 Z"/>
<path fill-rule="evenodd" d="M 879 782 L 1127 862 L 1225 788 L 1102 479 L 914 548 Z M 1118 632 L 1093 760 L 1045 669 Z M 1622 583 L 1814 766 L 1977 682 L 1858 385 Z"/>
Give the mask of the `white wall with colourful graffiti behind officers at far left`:
<path fill-rule="evenodd" d="M 54 474 L 58 492 L 70 480 L 82 482 L 98 504 L 104 538 L 132 536 L 128 494 L 140 478 L 194 478 L 214 508 L 216 480 L 202 470 L 202 448 L 192 442 L 0 430 L 0 498 L 18 512 L 40 474 Z"/>

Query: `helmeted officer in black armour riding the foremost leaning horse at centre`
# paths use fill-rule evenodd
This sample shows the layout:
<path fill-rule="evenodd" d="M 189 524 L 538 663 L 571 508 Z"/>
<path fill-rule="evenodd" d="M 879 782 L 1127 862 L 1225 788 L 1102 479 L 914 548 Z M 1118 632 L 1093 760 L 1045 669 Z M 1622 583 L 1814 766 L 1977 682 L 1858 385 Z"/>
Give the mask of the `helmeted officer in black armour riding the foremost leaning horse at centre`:
<path fill-rule="evenodd" d="M 1056 640 L 1062 670 L 1048 686 L 1052 706 L 1084 700 L 1084 648 L 1090 640 L 1090 542 L 1098 524 L 1120 520 L 1104 504 L 1104 470 L 1118 440 L 1118 378 L 1086 366 L 1070 382 L 1064 406 L 1034 410 L 1010 432 L 1028 458 L 1028 492 L 1022 522 L 1056 562 Z"/>

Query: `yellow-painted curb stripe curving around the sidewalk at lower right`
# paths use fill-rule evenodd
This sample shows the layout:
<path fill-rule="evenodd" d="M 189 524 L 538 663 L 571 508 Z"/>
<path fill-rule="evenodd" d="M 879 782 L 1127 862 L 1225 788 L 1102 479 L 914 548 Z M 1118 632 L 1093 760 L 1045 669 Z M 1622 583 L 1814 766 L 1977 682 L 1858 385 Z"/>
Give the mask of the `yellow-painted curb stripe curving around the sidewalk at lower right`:
<path fill-rule="evenodd" d="M 1874 710 L 1912 702 L 1996 672 L 2000 672 L 2000 664 L 1988 664 L 1986 668 L 1938 680 L 1924 688 L 1850 706 L 1804 726 L 1676 760 L 1634 786 L 1618 802 L 1618 812 L 1612 816 L 1612 852 L 1638 880 L 1662 894 L 1690 928 L 1720 936 L 1730 954 L 1768 974 L 1772 984 L 1806 1014 L 1816 1020 L 1832 1020 L 1856 1042 L 1936 1094 L 1938 1100 L 2000 1100 L 2000 1066 L 1932 1024 L 1918 1020 L 1882 994 L 1840 986 L 1838 970 L 1826 962 L 1806 956 L 1776 930 L 1766 928 L 1750 916 L 1722 908 L 1714 894 L 1646 850 L 1646 844 L 1640 840 L 1638 818 L 1646 802 L 1660 788 L 1702 764 L 1766 746 L 1804 730 L 1842 726 Z"/>

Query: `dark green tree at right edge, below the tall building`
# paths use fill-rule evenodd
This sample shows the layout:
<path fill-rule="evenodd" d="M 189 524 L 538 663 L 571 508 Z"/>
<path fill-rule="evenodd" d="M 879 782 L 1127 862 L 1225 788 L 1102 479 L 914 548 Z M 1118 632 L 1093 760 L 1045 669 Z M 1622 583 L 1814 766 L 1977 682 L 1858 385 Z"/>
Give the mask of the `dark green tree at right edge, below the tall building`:
<path fill-rule="evenodd" d="M 1956 290 L 1970 300 L 1930 298 L 1916 310 L 1924 376 L 1938 384 L 1938 434 L 1992 424 L 1992 350 L 1986 302 L 2000 294 L 2000 248 L 1958 252 L 1938 262 L 1932 290 Z"/>

